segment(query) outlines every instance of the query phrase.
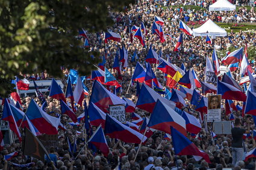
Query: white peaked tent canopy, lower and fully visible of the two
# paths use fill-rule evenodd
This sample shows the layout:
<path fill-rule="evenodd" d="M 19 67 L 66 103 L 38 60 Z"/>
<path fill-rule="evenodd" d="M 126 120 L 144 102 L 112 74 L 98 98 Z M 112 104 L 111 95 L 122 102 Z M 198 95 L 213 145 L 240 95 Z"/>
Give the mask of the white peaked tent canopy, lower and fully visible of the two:
<path fill-rule="evenodd" d="M 220 28 L 216 23 L 212 20 L 208 19 L 202 26 L 199 28 L 193 29 L 194 37 L 202 36 L 206 37 L 207 35 L 210 37 L 225 37 L 226 31 L 223 28 Z"/>

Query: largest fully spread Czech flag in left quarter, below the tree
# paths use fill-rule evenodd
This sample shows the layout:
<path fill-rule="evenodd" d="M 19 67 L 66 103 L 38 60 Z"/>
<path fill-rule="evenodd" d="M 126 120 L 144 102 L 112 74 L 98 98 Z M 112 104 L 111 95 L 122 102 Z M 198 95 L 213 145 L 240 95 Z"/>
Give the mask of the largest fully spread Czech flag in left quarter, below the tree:
<path fill-rule="evenodd" d="M 60 119 L 46 114 L 33 99 L 31 99 L 26 115 L 40 133 L 47 135 L 56 135 L 58 133 Z"/>

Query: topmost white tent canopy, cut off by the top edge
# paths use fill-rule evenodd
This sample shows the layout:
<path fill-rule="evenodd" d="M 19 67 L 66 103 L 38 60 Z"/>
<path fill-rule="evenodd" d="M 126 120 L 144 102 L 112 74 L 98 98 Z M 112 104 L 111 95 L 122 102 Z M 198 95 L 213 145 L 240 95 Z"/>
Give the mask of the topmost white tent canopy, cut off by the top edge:
<path fill-rule="evenodd" d="M 209 6 L 209 11 L 233 11 L 236 5 L 231 4 L 227 0 L 219 0 Z"/>

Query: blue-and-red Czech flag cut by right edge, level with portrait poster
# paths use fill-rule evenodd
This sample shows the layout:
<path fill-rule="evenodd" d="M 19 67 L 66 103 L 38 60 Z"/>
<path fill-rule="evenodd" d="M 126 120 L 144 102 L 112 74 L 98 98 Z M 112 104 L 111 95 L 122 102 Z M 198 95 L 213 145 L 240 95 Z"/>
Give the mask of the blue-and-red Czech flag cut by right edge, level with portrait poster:
<path fill-rule="evenodd" d="M 251 91 L 248 91 L 248 96 L 246 99 L 246 105 L 245 105 L 245 114 L 250 114 L 256 116 L 256 93 L 252 93 Z"/>

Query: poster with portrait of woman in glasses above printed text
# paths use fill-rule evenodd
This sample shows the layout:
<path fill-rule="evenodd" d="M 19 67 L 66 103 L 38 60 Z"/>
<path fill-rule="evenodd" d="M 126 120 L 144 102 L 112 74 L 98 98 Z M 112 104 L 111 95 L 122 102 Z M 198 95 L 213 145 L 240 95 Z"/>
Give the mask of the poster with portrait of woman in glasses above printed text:
<path fill-rule="evenodd" d="M 221 95 L 208 96 L 207 122 L 221 121 Z"/>

